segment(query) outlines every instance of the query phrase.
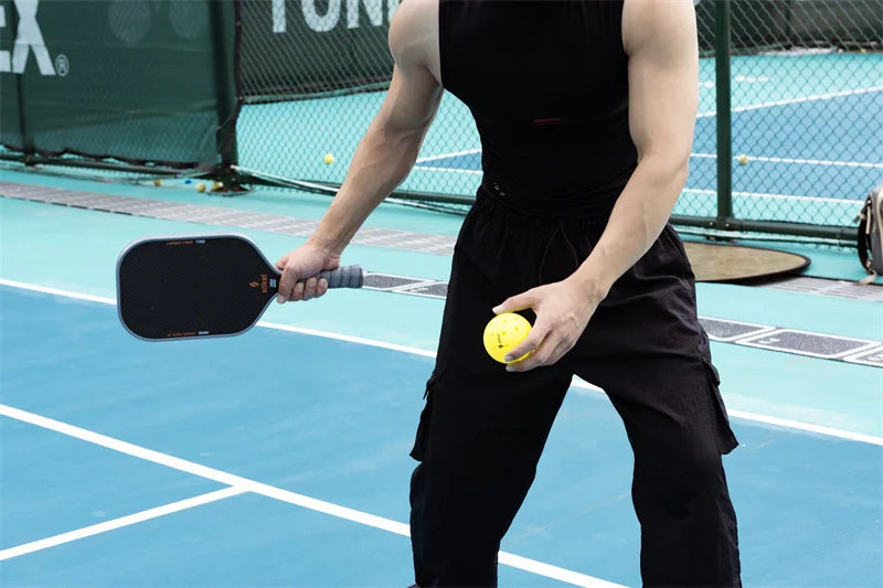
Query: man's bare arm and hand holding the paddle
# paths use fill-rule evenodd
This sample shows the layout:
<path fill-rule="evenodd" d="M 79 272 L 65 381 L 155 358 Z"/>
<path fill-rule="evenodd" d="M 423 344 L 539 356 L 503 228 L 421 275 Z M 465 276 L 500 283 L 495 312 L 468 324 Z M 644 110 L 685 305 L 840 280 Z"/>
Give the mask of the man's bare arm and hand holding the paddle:
<path fill-rule="evenodd" d="M 283 270 L 279 296 L 285 300 L 306 300 L 325 293 L 323 285 L 315 280 L 295 286 L 307 276 L 332 269 L 328 265 L 336 267 L 343 248 L 368 215 L 414 167 L 443 93 L 429 68 L 430 63 L 438 61 L 434 3 L 408 0 L 396 9 L 390 24 L 390 51 L 395 66 L 386 98 L 359 143 L 347 178 L 316 233 L 302 247 L 277 261 L 276 267 Z M 320 258 L 326 259 L 320 263 Z"/>

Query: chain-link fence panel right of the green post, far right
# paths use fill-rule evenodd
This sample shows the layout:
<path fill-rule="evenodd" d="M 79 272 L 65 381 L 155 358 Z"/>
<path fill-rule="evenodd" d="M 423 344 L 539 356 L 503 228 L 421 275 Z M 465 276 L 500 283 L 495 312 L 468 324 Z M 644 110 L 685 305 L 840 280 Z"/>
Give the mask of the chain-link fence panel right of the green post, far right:
<path fill-rule="evenodd" d="M 734 215 L 851 224 L 883 179 L 883 4 L 748 2 L 733 40 Z"/>

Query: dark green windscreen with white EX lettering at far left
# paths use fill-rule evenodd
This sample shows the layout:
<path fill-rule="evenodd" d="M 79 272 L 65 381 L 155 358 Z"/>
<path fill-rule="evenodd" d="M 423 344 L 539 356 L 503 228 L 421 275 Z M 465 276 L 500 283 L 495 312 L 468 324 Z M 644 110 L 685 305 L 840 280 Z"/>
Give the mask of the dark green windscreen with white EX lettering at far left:
<path fill-rule="evenodd" d="M 217 162 L 232 148 L 234 11 L 209 0 L 0 0 L 0 142 Z"/>

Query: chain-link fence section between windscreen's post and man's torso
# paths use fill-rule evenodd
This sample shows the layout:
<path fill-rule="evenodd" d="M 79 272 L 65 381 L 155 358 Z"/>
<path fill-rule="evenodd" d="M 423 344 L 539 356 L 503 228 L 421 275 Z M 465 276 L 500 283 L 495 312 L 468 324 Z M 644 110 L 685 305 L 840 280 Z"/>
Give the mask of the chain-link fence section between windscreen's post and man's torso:
<path fill-rule="evenodd" d="M 269 180 L 343 181 L 389 86 L 393 63 L 386 38 L 397 6 L 397 0 L 243 2 L 242 168 Z M 469 110 L 446 95 L 401 189 L 475 194 L 479 147 Z M 333 163 L 326 163 L 327 154 Z"/>

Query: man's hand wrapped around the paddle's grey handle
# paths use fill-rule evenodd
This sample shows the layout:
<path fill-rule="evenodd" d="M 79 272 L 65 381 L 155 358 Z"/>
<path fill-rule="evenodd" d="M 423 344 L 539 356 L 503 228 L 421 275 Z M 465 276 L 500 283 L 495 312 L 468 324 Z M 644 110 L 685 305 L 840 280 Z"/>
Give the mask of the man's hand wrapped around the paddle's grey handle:
<path fill-rule="evenodd" d="M 328 291 L 328 282 L 317 280 L 315 276 L 339 267 L 340 255 L 308 240 L 276 261 L 276 269 L 283 272 L 276 301 L 281 304 L 322 296 Z"/>

